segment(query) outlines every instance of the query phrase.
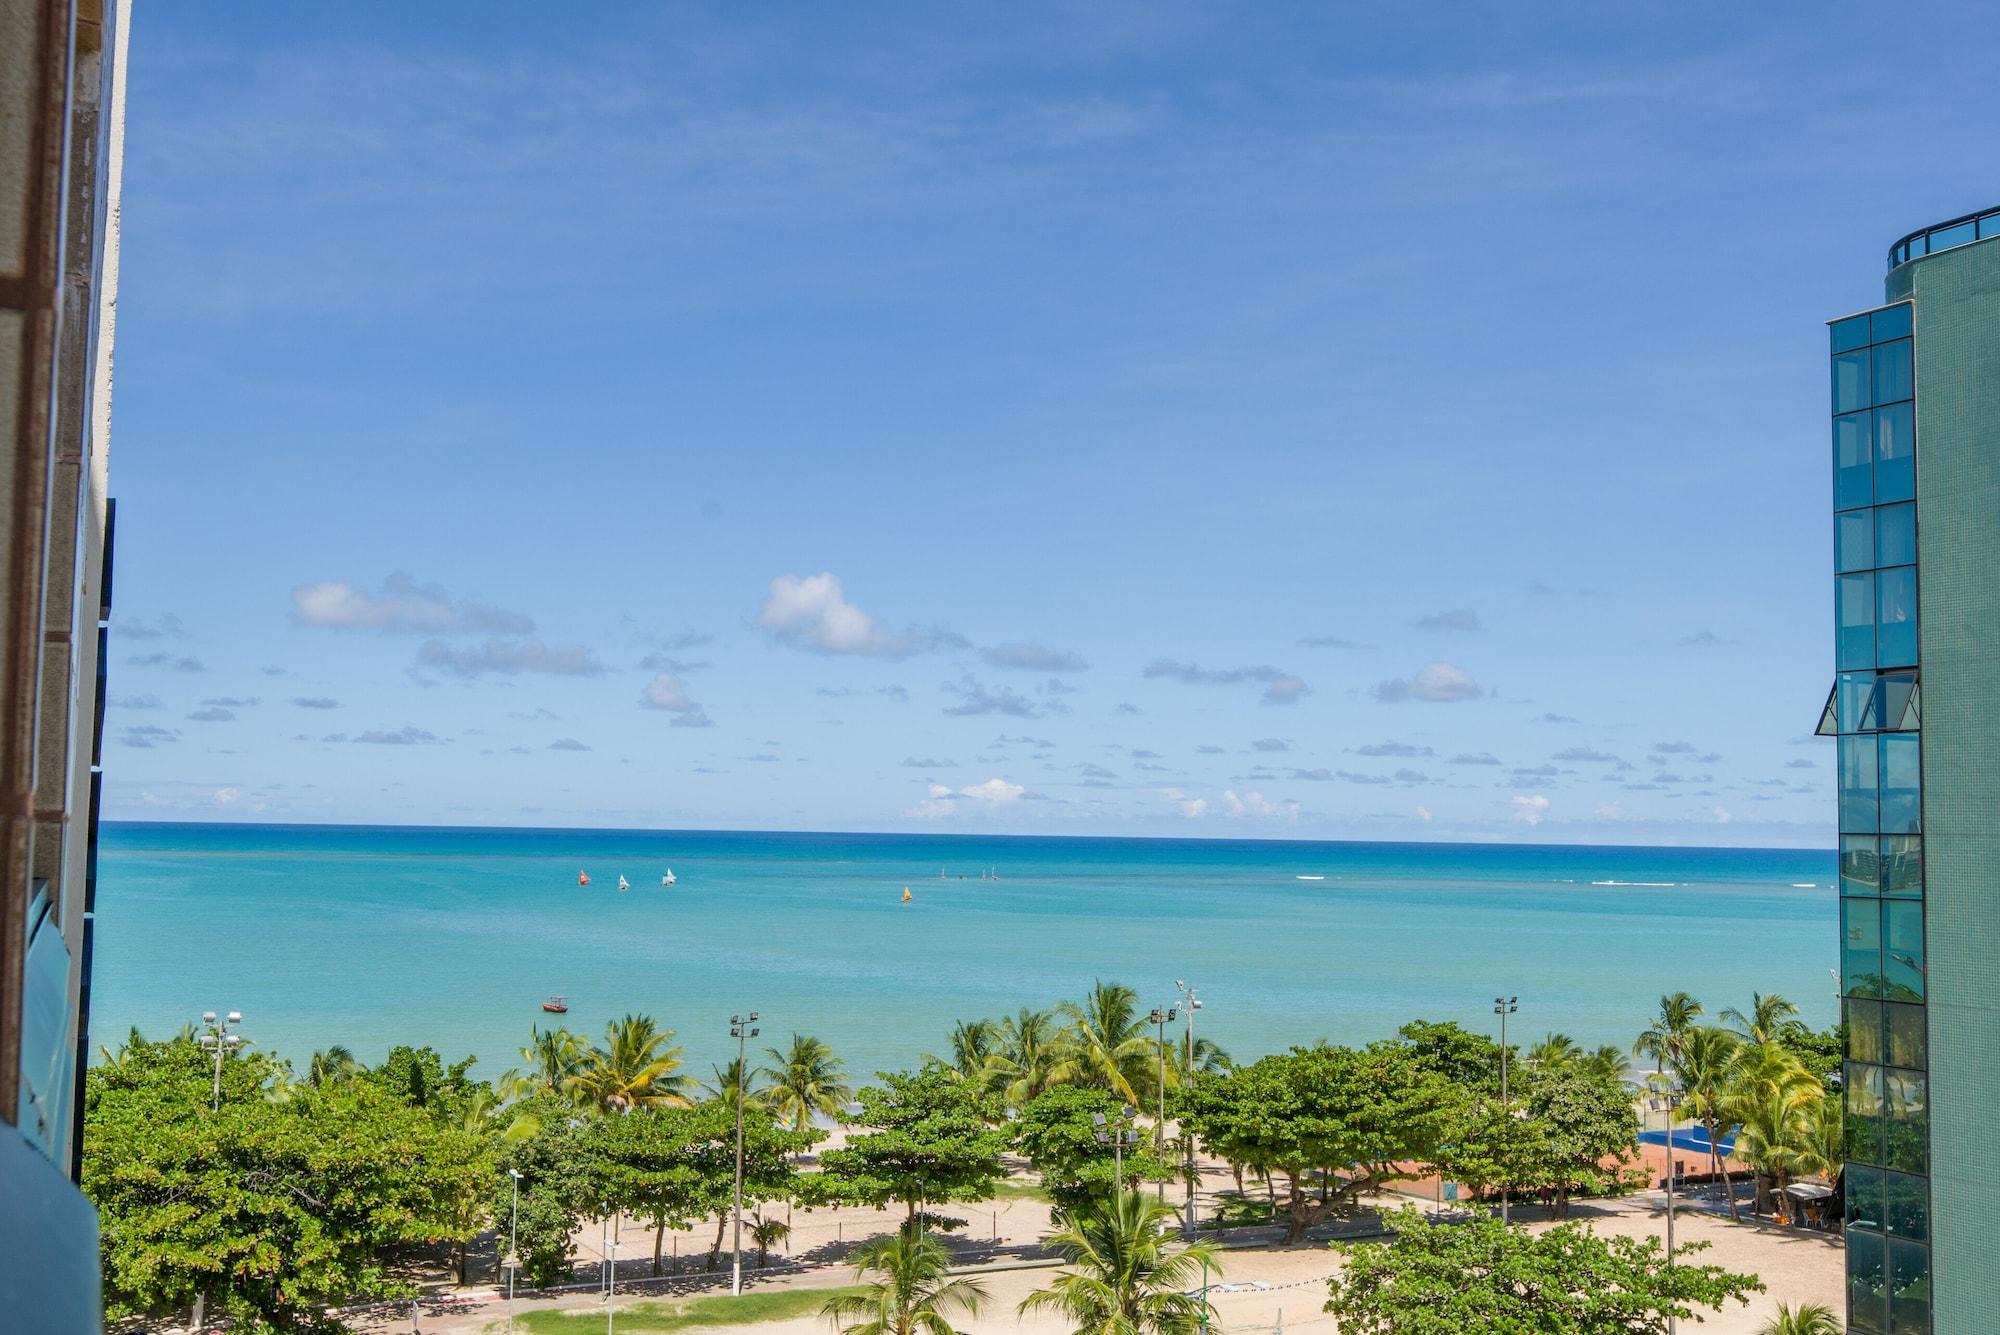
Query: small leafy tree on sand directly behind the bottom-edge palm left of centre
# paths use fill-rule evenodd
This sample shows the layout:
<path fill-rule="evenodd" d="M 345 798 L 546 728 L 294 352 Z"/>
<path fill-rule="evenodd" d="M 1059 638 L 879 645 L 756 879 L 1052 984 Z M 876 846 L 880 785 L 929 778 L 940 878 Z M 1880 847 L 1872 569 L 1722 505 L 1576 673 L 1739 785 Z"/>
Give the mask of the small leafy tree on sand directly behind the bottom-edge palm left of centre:
<path fill-rule="evenodd" d="M 842 1149 L 820 1155 L 816 1193 L 838 1201 L 984 1201 L 1006 1175 L 1006 1133 L 998 1107 L 968 1081 L 932 1065 L 884 1071 L 860 1091 L 860 1109 L 842 1121 L 860 1129 Z"/>

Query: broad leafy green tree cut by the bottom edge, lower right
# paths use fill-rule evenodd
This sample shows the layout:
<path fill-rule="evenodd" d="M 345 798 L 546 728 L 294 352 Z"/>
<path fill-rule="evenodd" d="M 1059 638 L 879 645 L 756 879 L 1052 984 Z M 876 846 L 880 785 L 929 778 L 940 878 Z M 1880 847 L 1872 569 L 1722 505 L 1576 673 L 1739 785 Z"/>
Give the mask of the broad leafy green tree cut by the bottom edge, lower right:
<path fill-rule="evenodd" d="M 1434 1225 L 1396 1211 L 1392 1243 L 1360 1243 L 1328 1281 L 1342 1335 L 1658 1335 L 1764 1283 L 1684 1257 L 1708 1243 L 1598 1237 L 1574 1223 L 1540 1233 L 1492 1215 Z"/>

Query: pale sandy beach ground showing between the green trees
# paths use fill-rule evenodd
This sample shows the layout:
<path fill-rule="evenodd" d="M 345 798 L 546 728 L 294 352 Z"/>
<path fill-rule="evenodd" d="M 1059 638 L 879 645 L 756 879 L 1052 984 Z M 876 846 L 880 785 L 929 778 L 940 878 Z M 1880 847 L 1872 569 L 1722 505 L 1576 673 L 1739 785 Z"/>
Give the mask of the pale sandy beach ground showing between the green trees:
<path fill-rule="evenodd" d="M 1660 1157 L 1658 1147 L 1648 1157 Z M 1206 1219 L 1222 1205 L 1222 1197 L 1234 1191 L 1234 1179 L 1226 1165 L 1204 1161 L 1198 1195 L 1198 1213 Z M 1784 1303 L 1828 1303 L 1838 1305 L 1842 1297 L 1842 1241 L 1836 1233 L 1784 1227 L 1772 1219 L 1752 1219 L 1748 1211 L 1742 1223 L 1730 1223 L 1722 1213 L 1716 1193 L 1708 1193 L 1704 1203 L 1682 1197 L 1676 1211 L 1676 1241 L 1706 1241 L 1710 1247 L 1696 1259 L 1724 1265 L 1736 1271 L 1758 1275 L 1766 1293 L 1754 1295 L 1750 1305 L 1730 1303 L 1722 1311 L 1704 1311 L 1702 1331 L 1712 1335 L 1754 1335 L 1780 1301 Z M 1738 1191 L 1740 1199 L 1744 1191 Z M 1168 1187 L 1168 1199 L 1176 1199 L 1178 1189 Z M 1398 1191 L 1384 1191 L 1364 1197 L 1356 1211 L 1354 1225 L 1336 1225 L 1344 1233 L 1370 1231 L 1368 1221 L 1378 1211 L 1402 1205 L 1430 1209 L 1430 1187 L 1426 1183 L 1402 1183 Z M 782 1207 L 780 1207 L 782 1211 Z M 1048 1313 L 1020 1315 L 1020 1301 L 1048 1283 L 1056 1259 L 1042 1251 L 1042 1239 L 1052 1231 L 1050 1207 L 1032 1193 L 1032 1177 L 1012 1175 L 1002 1187 L 1002 1195 L 992 1201 L 958 1203 L 942 1213 L 968 1219 L 968 1227 L 956 1235 L 954 1249 L 964 1255 L 964 1273 L 978 1275 L 990 1299 L 980 1315 L 960 1321 L 960 1329 L 970 1335 L 1066 1335 L 1068 1325 Z M 754 1253 L 746 1257 L 746 1291 L 820 1291 L 854 1283 L 854 1269 L 844 1263 L 852 1245 L 860 1239 L 892 1231 L 902 1219 L 902 1209 L 840 1207 L 816 1211 L 792 1211 L 792 1235 L 784 1255 L 772 1255 L 768 1269 L 754 1269 Z M 1570 1221 L 1588 1223 L 1604 1235 L 1658 1237 L 1664 1229 L 1664 1195 L 1642 1191 L 1628 1197 L 1574 1201 L 1568 1211 Z M 1528 1231 L 1550 1225 L 1550 1213 L 1538 1205 L 1516 1205 L 1514 1221 Z M 1224 1267 L 1210 1287 L 1210 1303 L 1216 1309 L 1216 1331 L 1292 1331 L 1314 1329 L 1334 1335 L 1332 1317 L 1322 1311 L 1326 1301 L 1326 1279 L 1342 1265 L 1342 1253 L 1326 1241 L 1330 1229 L 1314 1233 L 1296 1247 L 1282 1247 L 1282 1229 L 1238 1227 L 1222 1235 Z M 688 1271 L 690 1257 L 704 1257 L 714 1237 L 712 1227 L 670 1231 L 666 1235 L 666 1255 L 680 1257 Z M 596 1271 L 604 1261 L 604 1229 L 600 1221 L 588 1221 L 576 1235 L 578 1273 Z M 646 1331 L 646 1311 L 660 1303 L 680 1303 L 698 1297 L 728 1299 L 730 1253 L 722 1251 L 720 1271 L 682 1273 L 670 1279 L 652 1279 L 650 1227 L 626 1219 L 618 1231 L 618 1275 L 620 1289 L 612 1309 L 612 1329 Z M 486 1269 L 490 1279 L 492 1253 Z M 606 1303 L 602 1285 L 584 1279 L 582 1287 L 530 1295 L 518 1293 L 514 1301 L 516 1317 L 530 1313 L 564 1313 L 586 1317 L 596 1323 L 604 1319 Z M 392 1303 L 368 1313 L 350 1317 L 360 1331 L 400 1333 L 412 1329 L 412 1305 Z M 428 1287 L 416 1303 L 416 1319 L 422 1331 L 448 1331 L 472 1335 L 474 1331 L 506 1331 L 508 1301 L 506 1289 L 492 1287 L 490 1281 L 454 1289 L 444 1283 Z M 522 1321 L 522 1329 L 534 1329 Z M 678 1331 L 700 1331 L 702 1325 L 676 1325 Z M 716 1327 L 720 1329 L 720 1327 Z M 768 1335 L 824 1335 L 830 1327 L 818 1315 L 818 1301 L 808 1301 L 804 1309 L 790 1315 L 776 1315 L 756 1323 Z"/>

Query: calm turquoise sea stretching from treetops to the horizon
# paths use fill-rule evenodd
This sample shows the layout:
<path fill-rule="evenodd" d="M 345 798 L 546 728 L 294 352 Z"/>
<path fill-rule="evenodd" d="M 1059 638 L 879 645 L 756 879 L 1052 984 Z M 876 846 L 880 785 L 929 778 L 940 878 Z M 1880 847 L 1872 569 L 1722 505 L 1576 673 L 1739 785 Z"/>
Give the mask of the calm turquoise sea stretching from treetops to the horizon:
<path fill-rule="evenodd" d="M 1832 1023 L 1834 873 L 1788 849 L 108 823 L 92 1041 L 238 1009 L 298 1065 L 410 1041 L 496 1077 L 566 993 L 572 1029 L 648 1011 L 704 1077 L 748 1009 L 870 1073 L 1104 977 L 1146 1005 L 1188 979 L 1236 1057 L 1490 1029 L 1496 993 L 1510 1037 L 1626 1045 L 1672 989 Z"/>

